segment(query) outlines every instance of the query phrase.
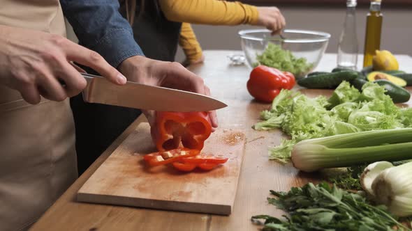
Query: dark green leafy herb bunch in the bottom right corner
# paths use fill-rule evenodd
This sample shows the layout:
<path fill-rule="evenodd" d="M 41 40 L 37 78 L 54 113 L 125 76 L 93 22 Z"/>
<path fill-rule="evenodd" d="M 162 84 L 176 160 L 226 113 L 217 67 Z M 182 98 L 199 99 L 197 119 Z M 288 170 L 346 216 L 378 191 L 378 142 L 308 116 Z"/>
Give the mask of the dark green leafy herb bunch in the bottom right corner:
<path fill-rule="evenodd" d="M 387 207 L 369 205 L 358 194 L 321 183 L 306 184 L 289 192 L 270 191 L 277 198 L 268 202 L 288 212 L 286 220 L 258 215 L 252 221 L 265 220 L 263 230 L 410 230 L 388 212 Z"/>

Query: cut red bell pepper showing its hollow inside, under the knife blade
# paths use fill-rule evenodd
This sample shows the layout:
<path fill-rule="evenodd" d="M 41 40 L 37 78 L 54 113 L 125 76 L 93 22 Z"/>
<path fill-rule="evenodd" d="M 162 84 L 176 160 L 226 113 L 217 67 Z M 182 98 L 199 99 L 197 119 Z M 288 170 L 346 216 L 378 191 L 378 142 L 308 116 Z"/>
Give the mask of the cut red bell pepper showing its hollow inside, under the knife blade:
<path fill-rule="evenodd" d="M 202 150 L 212 132 L 207 112 L 156 112 L 152 138 L 159 151 L 175 148 Z"/>

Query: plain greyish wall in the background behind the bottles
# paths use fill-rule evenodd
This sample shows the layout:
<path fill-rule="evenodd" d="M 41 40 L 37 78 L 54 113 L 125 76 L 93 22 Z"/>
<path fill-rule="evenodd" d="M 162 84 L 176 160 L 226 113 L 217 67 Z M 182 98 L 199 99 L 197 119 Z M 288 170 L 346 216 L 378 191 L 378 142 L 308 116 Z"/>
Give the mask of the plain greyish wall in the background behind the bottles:
<path fill-rule="evenodd" d="M 342 1 L 343 5 L 345 1 Z M 307 29 L 325 31 L 332 35 L 327 52 L 337 52 L 339 35 L 344 23 L 346 8 L 302 8 L 279 7 L 286 17 L 288 29 Z M 368 9 L 358 8 L 357 31 L 359 51 L 363 52 L 365 42 L 366 15 Z M 412 9 L 385 8 L 383 5 L 383 29 L 381 49 L 396 54 L 412 56 Z M 241 49 L 237 31 L 251 29 L 253 26 L 204 26 L 193 25 L 203 49 Z M 177 61 L 182 61 L 182 51 L 178 51 Z M 411 63 L 412 65 L 412 63 Z"/>

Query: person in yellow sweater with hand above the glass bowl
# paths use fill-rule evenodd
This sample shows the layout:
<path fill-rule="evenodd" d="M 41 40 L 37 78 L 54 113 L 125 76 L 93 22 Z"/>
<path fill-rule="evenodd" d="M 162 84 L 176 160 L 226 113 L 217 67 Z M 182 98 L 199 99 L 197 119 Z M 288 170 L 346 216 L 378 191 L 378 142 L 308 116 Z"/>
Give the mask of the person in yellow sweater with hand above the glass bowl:
<path fill-rule="evenodd" d="M 187 63 L 203 61 L 202 49 L 189 23 L 231 26 L 251 24 L 265 26 L 274 34 L 279 33 L 286 25 L 286 20 L 277 7 L 256 7 L 238 1 L 219 0 L 158 1 L 166 19 L 182 22 L 179 45 L 186 55 Z M 140 1 L 140 6 L 144 5 L 144 1 Z M 141 7 L 140 10 L 143 8 Z M 133 24 L 135 11 L 136 0 L 126 0 L 126 13 L 131 24 Z"/>

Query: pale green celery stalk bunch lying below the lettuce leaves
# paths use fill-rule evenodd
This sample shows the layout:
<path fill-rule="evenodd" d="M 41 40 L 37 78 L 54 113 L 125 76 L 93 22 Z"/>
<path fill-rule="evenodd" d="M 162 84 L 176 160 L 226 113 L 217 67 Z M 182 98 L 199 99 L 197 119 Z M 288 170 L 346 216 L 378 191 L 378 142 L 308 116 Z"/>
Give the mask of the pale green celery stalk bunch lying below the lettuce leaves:
<path fill-rule="evenodd" d="M 412 159 L 412 128 L 313 138 L 292 150 L 293 166 L 305 172 L 404 159 Z"/>

